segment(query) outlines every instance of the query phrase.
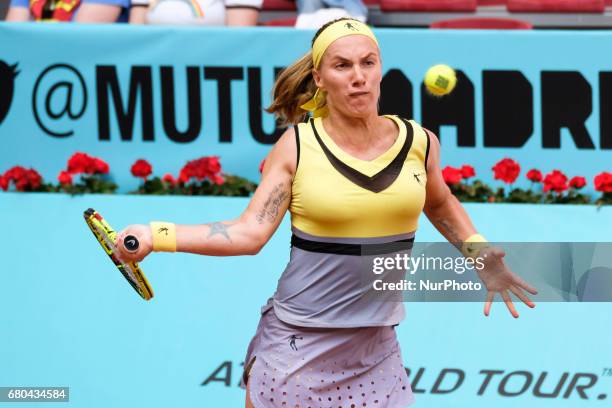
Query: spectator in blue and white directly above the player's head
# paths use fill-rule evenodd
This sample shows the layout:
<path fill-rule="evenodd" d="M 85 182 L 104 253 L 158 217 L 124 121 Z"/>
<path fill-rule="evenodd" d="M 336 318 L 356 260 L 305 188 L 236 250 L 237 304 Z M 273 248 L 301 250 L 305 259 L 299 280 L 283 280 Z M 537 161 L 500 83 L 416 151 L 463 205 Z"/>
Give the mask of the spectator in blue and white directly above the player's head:
<path fill-rule="evenodd" d="M 297 0 L 297 9 L 297 28 L 319 28 L 341 17 L 365 23 L 368 17 L 368 8 L 361 0 Z"/>

